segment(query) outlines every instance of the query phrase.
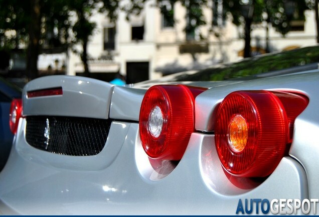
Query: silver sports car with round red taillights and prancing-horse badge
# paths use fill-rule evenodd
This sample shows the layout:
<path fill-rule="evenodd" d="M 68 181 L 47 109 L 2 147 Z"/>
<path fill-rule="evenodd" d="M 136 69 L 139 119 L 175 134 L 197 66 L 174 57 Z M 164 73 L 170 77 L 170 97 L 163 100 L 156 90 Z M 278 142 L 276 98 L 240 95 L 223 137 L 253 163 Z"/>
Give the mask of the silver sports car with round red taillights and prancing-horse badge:
<path fill-rule="evenodd" d="M 35 79 L 0 213 L 318 214 L 319 70 L 302 63 L 226 81 Z"/>

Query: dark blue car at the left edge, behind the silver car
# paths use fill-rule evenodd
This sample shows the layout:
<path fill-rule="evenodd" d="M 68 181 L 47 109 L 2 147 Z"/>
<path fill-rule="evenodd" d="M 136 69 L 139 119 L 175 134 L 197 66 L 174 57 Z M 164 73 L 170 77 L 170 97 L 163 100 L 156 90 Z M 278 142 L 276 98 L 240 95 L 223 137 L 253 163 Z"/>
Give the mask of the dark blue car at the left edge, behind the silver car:
<path fill-rule="evenodd" d="M 21 99 L 22 90 L 0 77 L 0 171 L 5 166 L 14 134 L 10 130 L 10 108 L 14 99 Z"/>

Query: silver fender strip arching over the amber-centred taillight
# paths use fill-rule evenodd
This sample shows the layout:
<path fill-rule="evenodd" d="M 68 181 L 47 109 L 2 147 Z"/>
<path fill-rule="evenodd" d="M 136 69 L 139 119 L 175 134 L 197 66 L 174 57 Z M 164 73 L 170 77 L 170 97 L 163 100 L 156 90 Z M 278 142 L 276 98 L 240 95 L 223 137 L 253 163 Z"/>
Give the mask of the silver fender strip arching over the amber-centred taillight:
<path fill-rule="evenodd" d="M 291 90 L 315 96 L 319 80 L 318 70 L 308 74 L 295 74 L 287 76 L 270 77 L 219 85 L 201 93 L 196 97 L 195 128 L 199 131 L 213 132 L 215 125 L 216 106 L 229 93 L 237 90 Z"/>

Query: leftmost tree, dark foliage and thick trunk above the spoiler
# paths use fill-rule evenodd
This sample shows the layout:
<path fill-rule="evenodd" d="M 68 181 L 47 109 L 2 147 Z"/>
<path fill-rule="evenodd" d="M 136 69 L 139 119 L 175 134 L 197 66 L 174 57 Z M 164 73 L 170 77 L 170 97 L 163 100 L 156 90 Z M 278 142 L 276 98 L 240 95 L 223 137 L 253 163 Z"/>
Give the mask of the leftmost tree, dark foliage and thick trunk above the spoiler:
<path fill-rule="evenodd" d="M 67 43 L 69 23 L 64 6 L 62 0 L 0 0 L 0 47 L 27 47 L 29 79 L 38 77 L 41 48 Z"/>

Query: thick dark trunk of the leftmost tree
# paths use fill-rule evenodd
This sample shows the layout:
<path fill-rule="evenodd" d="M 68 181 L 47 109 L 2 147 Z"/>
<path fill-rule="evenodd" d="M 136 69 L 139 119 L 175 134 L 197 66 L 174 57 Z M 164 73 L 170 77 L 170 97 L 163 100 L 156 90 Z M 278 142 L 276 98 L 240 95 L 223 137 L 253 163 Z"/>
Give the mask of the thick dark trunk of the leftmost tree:
<path fill-rule="evenodd" d="M 30 0 L 31 22 L 29 26 L 29 44 L 27 49 L 27 77 L 32 80 L 39 76 L 38 56 L 41 26 L 40 0 Z"/>

